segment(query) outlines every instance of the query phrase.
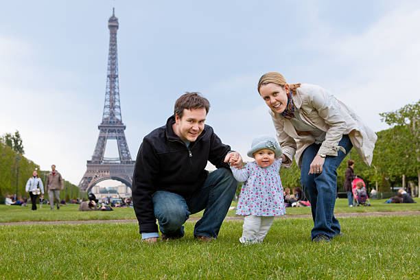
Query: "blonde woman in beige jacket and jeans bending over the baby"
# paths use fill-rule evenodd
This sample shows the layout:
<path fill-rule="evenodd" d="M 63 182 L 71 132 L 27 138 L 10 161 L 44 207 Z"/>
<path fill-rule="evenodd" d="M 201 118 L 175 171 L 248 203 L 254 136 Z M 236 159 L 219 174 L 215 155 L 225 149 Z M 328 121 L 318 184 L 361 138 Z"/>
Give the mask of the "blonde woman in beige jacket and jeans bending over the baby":
<path fill-rule="evenodd" d="M 288 84 L 280 73 L 266 73 L 258 92 L 271 109 L 283 165 L 296 156 L 301 185 L 312 205 L 314 242 L 329 242 L 341 234 L 334 217 L 337 168 L 353 147 L 371 164 L 375 133 L 344 103 L 320 86 Z"/>

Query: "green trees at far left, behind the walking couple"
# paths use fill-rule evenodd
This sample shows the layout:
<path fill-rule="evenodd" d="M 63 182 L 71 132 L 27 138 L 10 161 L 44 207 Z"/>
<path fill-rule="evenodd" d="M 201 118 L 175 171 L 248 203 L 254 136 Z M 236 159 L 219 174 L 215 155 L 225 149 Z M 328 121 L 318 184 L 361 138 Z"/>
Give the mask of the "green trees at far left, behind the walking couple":
<path fill-rule="evenodd" d="M 45 189 L 45 179 L 49 171 L 40 170 L 39 165 L 27 159 L 23 149 L 23 141 L 19 131 L 14 134 L 5 133 L 0 137 L 0 196 L 16 194 L 19 198 L 29 198 L 25 192 L 27 180 L 32 176 L 34 170 L 38 171 L 38 176 L 43 181 Z M 64 180 L 65 189 L 60 191 L 60 199 L 67 202 L 71 199 L 79 198 L 81 195 L 78 186 Z"/>

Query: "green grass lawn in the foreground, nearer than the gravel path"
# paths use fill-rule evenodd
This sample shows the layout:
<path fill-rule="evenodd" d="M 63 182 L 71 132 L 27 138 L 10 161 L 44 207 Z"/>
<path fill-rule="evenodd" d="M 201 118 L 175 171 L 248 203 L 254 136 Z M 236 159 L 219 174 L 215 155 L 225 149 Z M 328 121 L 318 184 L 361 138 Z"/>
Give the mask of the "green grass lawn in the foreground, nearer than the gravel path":
<path fill-rule="evenodd" d="M 344 236 L 314 244 L 312 219 L 275 220 L 250 246 L 238 241 L 240 221 L 224 222 L 211 243 L 194 240 L 194 222 L 157 244 L 141 242 L 135 223 L 0 226 L 0 279 L 420 278 L 419 215 L 340 223 Z"/>

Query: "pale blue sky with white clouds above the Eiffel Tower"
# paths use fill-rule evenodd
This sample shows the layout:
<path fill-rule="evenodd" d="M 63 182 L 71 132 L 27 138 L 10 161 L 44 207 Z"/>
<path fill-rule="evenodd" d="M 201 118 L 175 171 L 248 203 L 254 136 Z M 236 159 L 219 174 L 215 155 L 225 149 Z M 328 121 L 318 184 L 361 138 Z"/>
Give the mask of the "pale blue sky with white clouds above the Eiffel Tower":
<path fill-rule="evenodd" d="M 199 91 L 206 123 L 244 160 L 275 136 L 259 77 L 318 84 L 373 130 L 419 100 L 419 1 L 0 0 L 0 135 L 78 185 L 102 121 L 115 7 L 121 115 L 132 159 L 174 102 Z M 113 150 L 107 150 L 111 156 Z"/>

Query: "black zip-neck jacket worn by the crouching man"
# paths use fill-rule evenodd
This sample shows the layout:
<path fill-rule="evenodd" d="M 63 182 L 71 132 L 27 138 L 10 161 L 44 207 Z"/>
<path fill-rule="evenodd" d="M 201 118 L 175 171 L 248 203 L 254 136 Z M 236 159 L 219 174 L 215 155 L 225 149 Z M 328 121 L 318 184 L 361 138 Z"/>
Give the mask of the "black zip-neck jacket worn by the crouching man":
<path fill-rule="evenodd" d="M 170 191 L 189 198 L 207 178 L 207 161 L 215 167 L 226 167 L 224 157 L 231 150 L 215 135 L 211 126 L 204 130 L 189 148 L 174 133 L 175 117 L 166 126 L 156 128 L 140 145 L 132 183 L 132 200 L 140 233 L 157 233 L 152 194 Z M 230 169 L 229 169 L 230 170 Z"/>

